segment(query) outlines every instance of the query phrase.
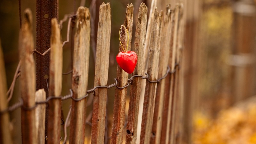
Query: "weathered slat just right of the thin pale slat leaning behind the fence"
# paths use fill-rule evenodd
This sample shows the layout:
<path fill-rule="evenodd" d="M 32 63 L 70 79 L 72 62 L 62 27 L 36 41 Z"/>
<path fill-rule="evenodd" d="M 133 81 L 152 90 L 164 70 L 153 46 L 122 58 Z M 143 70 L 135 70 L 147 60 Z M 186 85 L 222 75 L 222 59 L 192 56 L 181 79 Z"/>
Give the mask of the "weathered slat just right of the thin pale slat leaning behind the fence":
<path fill-rule="evenodd" d="M 159 61 L 159 49 L 163 27 L 163 12 L 159 14 L 155 8 L 154 22 L 151 31 L 148 56 L 148 78 L 151 81 L 157 79 L 157 69 Z M 146 82 L 145 96 L 143 103 L 143 114 L 141 123 L 140 143 L 150 142 L 154 113 L 154 97 L 156 93 L 156 83 Z"/>

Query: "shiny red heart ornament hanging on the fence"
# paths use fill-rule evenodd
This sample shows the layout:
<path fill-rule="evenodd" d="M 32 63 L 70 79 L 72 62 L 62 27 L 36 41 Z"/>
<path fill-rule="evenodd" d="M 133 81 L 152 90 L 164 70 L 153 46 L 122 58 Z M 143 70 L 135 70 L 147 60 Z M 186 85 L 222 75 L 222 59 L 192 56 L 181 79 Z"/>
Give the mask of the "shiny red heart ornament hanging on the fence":
<path fill-rule="evenodd" d="M 137 54 L 133 51 L 119 52 L 116 55 L 116 61 L 125 72 L 131 74 L 137 64 Z"/>

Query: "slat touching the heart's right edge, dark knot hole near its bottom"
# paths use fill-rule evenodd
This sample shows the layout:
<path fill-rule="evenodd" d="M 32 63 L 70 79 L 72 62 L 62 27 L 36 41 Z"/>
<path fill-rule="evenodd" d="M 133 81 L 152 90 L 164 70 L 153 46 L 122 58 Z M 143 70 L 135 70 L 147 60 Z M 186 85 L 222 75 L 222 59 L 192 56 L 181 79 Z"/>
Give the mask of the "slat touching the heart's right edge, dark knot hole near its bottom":
<path fill-rule="evenodd" d="M 143 75 L 143 53 L 145 44 L 145 35 L 147 27 L 148 8 L 146 4 L 141 3 L 139 8 L 138 23 L 135 31 L 134 51 L 137 53 L 137 65 L 132 73 L 134 75 Z M 126 144 L 136 144 L 137 125 L 140 104 L 141 77 L 134 77 L 131 84 L 130 102 L 128 111 L 128 120 L 126 127 Z"/>

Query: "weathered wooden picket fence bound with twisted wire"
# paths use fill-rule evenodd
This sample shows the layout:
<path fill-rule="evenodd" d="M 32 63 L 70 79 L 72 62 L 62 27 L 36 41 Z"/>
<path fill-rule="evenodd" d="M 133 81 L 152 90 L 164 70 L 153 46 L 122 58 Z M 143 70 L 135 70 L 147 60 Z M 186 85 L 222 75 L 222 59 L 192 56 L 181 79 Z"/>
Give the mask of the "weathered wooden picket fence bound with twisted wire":
<path fill-rule="evenodd" d="M 125 103 L 129 85 L 131 92 L 125 142 L 136 143 L 136 140 L 140 139 L 140 143 L 145 144 L 180 143 L 183 110 L 183 98 L 180 95 L 183 6 L 177 4 L 171 8 L 170 5 L 167 5 L 164 12 L 158 12 L 155 5 L 153 1 L 147 26 L 148 8 L 144 3 L 140 4 L 134 40 L 134 51 L 138 55 L 138 61 L 132 77 L 128 79 L 128 73 L 118 66 L 116 83 L 109 86 L 107 82 L 111 8 L 109 3 L 100 5 L 95 80 L 94 88 L 91 90 L 87 90 L 91 33 L 90 12 L 86 7 L 79 7 L 77 14 L 70 16 L 76 17 L 76 32 L 72 90 L 66 96 L 60 95 L 62 47 L 68 40 L 61 43 L 60 23 L 57 19 L 52 19 L 52 36 L 49 37 L 51 48 L 43 54 L 34 50 L 32 14 L 29 9 L 26 9 L 19 37 L 20 63 L 14 76 L 14 80 L 20 77 L 21 99 L 20 102 L 10 107 L 8 107 L 8 102 L 13 90 L 10 89 L 7 92 L 3 53 L 0 51 L 0 143 L 13 143 L 8 127 L 9 112 L 20 107 L 22 143 L 60 143 L 61 123 L 64 124 L 65 133 L 61 142 L 66 143 L 67 127 L 69 126 L 69 143 L 84 143 L 86 97 L 90 93 L 94 95 L 91 143 L 107 143 L 108 138 L 106 139 L 105 136 L 107 90 L 116 87 L 111 143 L 120 144 L 124 142 Z M 127 44 L 128 51 L 131 50 L 132 45 L 132 24 L 133 5 L 127 4 L 124 24 L 121 26 L 120 42 L 122 45 Z M 121 43 L 119 52 L 123 51 Z M 44 56 L 47 52 L 50 52 L 50 73 L 49 83 L 47 82 L 49 96 L 46 98 L 44 89 L 36 91 L 33 53 Z M 146 71 L 144 68 L 147 68 Z M 144 74 L 145 72 L 146 74 Z M 143 89 L 145 89 L 145 93 L 141 94 Z M 6 97 L 6 93 L 9 98 Z M 142 124 L 138 127 L 140 97 L 142 96 L 144 96 Z M 60 118 L 61 102 L 67 99 L 72 99 L 72 105 L 66 120 L 62 120 Z M 45 109 L 49 110 L 48 116 L 45 116 Z M 45 127 L 45 118 L 48 119 L 47 127 Z M 47 136 L 44 131 L 47 131 Z M 140 138 L 137 138 L 138 131 Z"/>

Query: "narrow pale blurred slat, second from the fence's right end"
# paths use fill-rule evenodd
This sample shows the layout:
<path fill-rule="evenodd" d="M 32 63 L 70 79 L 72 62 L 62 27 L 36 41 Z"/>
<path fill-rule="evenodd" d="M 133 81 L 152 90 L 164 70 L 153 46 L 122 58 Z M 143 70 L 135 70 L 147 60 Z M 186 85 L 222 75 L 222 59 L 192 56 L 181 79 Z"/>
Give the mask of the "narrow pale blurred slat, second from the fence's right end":
<path fill-rule="evenodd" d="M 175 119 L 176 119 L 176 105 L 178 103 L 178 98 L 177 98 L 177 85 L 178 85 L 178 78 L 179 78 L 179 72 L 178 72 L 178 67 L 175 67 L 175 63 L 178 62 L 177 61 L 177 57 L 178 57 L 178 50 L 177 50 L 177 43 L 178 43 L 178 31 L 179 31 L 179 23 L 180 23 L 180 19 L 179 19 L 179 15 L 180 15 L 180 4 L 176 4 L 175 6 L 175 14 L 174 14 L 174 34 L 173 34 L 173 55 L 172 55 L 172 70 L 176 70 L 175 72 L 175 78 L 174 80 L 172 81 L 172 84 L 171 84 L 171 92 L 170 92 L 170 96 L 172 96 L 172 106 L 171 106 L 171 112 L 168 113 L 168 115 L 170 114 L 170 120 L 171 120 L 171 123 L 170 123 L 170 143 L 173 144 L 174 143 L 174 139 L 175 139 Z"/>

